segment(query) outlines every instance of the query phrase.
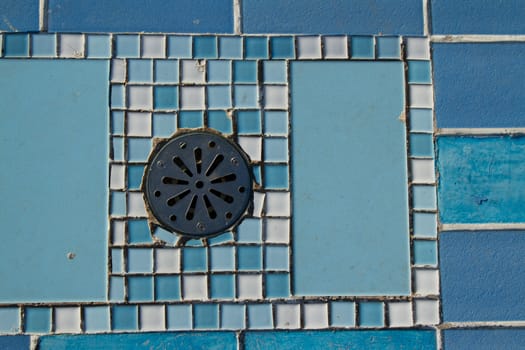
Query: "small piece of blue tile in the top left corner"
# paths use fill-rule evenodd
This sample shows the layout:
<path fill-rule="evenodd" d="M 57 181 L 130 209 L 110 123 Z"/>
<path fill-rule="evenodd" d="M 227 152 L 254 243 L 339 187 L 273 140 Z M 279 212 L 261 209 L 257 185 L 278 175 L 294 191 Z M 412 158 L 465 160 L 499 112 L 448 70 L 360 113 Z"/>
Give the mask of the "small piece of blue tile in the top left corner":
<path fill-rule="evenodd" d="M 2 0 L 0 13 L 2 32 L 38 31 L 38 1 Z"/>

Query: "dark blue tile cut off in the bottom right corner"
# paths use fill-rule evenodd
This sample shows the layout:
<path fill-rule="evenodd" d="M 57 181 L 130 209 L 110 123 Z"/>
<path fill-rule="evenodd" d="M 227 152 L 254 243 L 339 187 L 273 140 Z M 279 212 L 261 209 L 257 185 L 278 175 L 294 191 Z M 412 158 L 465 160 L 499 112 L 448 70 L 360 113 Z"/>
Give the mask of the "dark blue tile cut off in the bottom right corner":
<path fill-rule="evenodd" d="M 497 329 L 447 329 L 443 331 L 443 345 L 446 350 L 491 350 L 523 349 L 524 328 Z"/>

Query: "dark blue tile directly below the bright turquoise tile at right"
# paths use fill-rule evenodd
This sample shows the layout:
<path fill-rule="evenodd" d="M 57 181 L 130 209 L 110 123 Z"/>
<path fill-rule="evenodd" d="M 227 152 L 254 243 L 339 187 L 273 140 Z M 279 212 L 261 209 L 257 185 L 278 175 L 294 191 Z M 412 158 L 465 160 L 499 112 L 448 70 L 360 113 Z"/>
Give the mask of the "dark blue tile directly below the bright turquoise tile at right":
<path fill-rule="evenodd" d="M 439 257 L 444 321 L 525 318 L 525 232 L 444 232 Z"/>

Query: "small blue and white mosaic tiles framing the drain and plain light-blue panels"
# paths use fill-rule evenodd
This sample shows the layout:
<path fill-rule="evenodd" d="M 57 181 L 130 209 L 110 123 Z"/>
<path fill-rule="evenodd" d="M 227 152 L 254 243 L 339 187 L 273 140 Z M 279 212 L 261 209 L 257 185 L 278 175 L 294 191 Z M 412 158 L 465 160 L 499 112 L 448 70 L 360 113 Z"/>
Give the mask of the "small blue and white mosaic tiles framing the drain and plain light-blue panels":
<path fill-rule="evenodd" d="M 439 270 L 437 259 L 437 218 L 436 218 L 436 179 L 434 169 L 434 123 L 433 123 L 433 92 L 430 67 L 430 50 L 428 38 L 424 37 L 373 37 L 373 36 L 190 36 L 190 35 L 150 35 L 150 34 L 4 34 L 0 36 L 2 42 L 3 58 L 31 58 L 31 59 L 111 59 L 111 126 L 112 126 L 112 159 L 110 160 L 110 201 L 113 210 L 122 210 L 122 215 L 111 212 L 111 234 L 109 242 L 109 255 L 111 260 L 122 261 L 121 269 L 114 269 L 110 265 L 108 303 L 74 303 L 71 306 L 46 305 L 5 305 L 0 308 L 0 333 L 81 333 L 81 332 L 119 332 L 119 331 L 148 331 L 148 330 L 185 330 L 185 329 L 326 329 L 326 328 L 390 328 L 412 327 L 414 325 L 435 325 L 440 322 L 439 305 Z M 288 62 L 290 60 L 396 60 L 404 61 L 406 68 L 406 115 L 407 144 L 409 145 L 409 203 L 411 222 L 411 269 L 412 269 L 412 294 L 399 297 L 314 297 L 302 298 L 291 296 L 289 279 L 288 295 L 272 297 L 265 291 L 267 281 L 264 253 L 261 252 L 259 267 L 239 274 L 237 265 L 227 271 L 227 274 L 249 276 L 246 285 L 252 286 L 252 279 L 258 279 L 257 285 L 260 292 L 256 295 L 243 297 L 236 292 L 230 298 L 209 298 L 211 287 L 203 285 L 197 279 L 210 276 L 223 276 L 226 273 L 210 273 L 210 250 L 217 248 L 234 249 L 247 247 L 276 247 L 288 249 L 290 234 L 290 203 L 289 203 L 289 167 L 288 157 L 279 161 L 270 160 L 271 165 L 287 167 L 288 183 L 283 189 L 270 189 L 265 179 L 265 159 L 263 157 L 264 144 L 267 139 L 284 140 L 288 143 L 290 115 L 288 100 Z M 233 67 L 230 62 L 253 62 L 256 67 L 255 81 L 234 81 Z M 141 69 L 144 64 L 151 66 Z M 172 76 L 171 81 L 157 81 L 155 72 L 158 62 L 169 65 L 176 62 L 178 74 Z M 203 72 L 199 76 L 200 68 L 206 67 L 210 62 L 230 65 L 230 77 L 222 81 L 210 81 Z M 244 64 L 244 63 L 243 63 Z M 241 64 L 241 65 L 243 65 Z M 285 79 L 278 82 L 275 79 L 265 80 L 261 75 L 265 64 L 284 65 Z M 130 77 L 131 65 L 135 77 Z M 162 64 L 160 64 L 162 65 Z M 187 66 L 187 67 L 186 67 Z M 194 69 L 196 68 L 196 69 Z M 184 80 L 184 72 L 190 77 Z M 145 75 L 144 76 L 141 76 Z M 130 78 L 132 79 L 130 81 Z M 280 78 L 279 78 L 280 79 Z M 129 84 L 128 84 L 129 83 Z M 255 101 L 251 105 L 237 105 L 234 89 L 255 91 Z M 273 91 L 272 88 L 279 88 Z M 156 101 L 162 93 L 155 95 L 155 90 L 162 91 L 176 88 L 177 101 L 169 100 L 166 105 L 156 106 Z M 210 105 L 210 88 L 220 90 L 229 88 L 226 97 L 227 103 Z M 183 90 L 188 89 L 184 94 Z M 199 89 L 196 93 L 196 89 Z M 197 98 L 195 96 L 198 96 Z M 273 97 L 272 97 L 273 96 Z M 229 98 L 229 100 L 228 100 Z M 269 99 L 274 102 L 266 104 Z M 120 102 L 117 102 L 120 101 Z M 253 100 L 252 100 L 253 101 Z M 262 104 L 261 104 L 262 103 Z M 166 107 L 167 106 L 167 107 Z M 224 111 L 231 115 L 224 115 Z M 236 120 L 237 113 L 262 110 L 266 112 L 286 113 L 286 132 L 275 134 L 266 132 L 264 116 L 261 115 L 260 130 L 248 132 L 244 135 L 239 132 L 239 126 L 231 123 L 225 127 L 224 120 Z M 222 111 L 222 112 L 221 112 Z M 220 116 L 210 118 L 210 114 L 217 112 Z M 135 134 L 133 125 L 144 124 L 144 116 L 148 114 L 151 133 Z M 129 155 L 129 139 L 138 141 L 138 154 L 147 156 L 151 148 L 151 139 L 155 136 L 166 137 L 167 134 L 157 134 L 155 131 L 155 114 L 162 114 L 173 118 L 173 131 L 175 125 L 183 127 L 212 127 L 212 120 L 217 118 L 219 131 L 229 133 L 235 138 L 245 151 L 255 160 L 254 165 L 259 166 L 260 174 L 256 175 L 261 186 L 255 195 L 255 208 L 253 218 L 266 220 L 286 220 L 287 229 L 284 236 L 278 237 L 267 230 L 268 224 L 263 223 L 261 238 L 255 241 L 239 243 L 239 232 L 236 232 L 237 241 L 232 235 L 225 235 L 216 241 L 210 241 L 206 247 L 194 244 L 185 249 L 205 251 L 206 261 L 200 271 L 191 271 L 187 274 L 181 272 L 183 254 L 178 255 L 178 262 L 162 260 L 157 252 L 161 248 L 159 242 L 130 243 L 130 223 L 137 219 L 144 219 L 145 213 L 140 208 L 142 196 L 139 191 L 127 191 L 129 187 L 131 166 L 140 167 L 144 159 L 137 161 L 127 159 Z M 184 114 L 188 119 L 185 121 Z M 200 124 L 185 124 L 196 115 L 202 118 Z M 233 117 L 232 117 L 233 116 Z M 226 119 L 225 119 L 226 117 Z M 232 117 L 231 119 L 228 119 Z M 175 123 L 177 118 L 177 123 Z M 120 123 L 121 129 L 114 129 Z M 148 123 L 146 121 L 146 123 Z M 166 123 L 166 122 L 165 122 Z M 226 123 L 227 124 L 227 123 Z M 131 126 L 131 127 L 130 127 Z M 222 129 L 224 127 L 224 129 Z M 143 129 L 143 128 L 137 128 Z M 122 157 L 115 159 L 119 151 L 114 140 L 122 139 L 120 147 Z M 245 139 L 245 141 L 243 141 Z M 254 139 L 258 139 L 254 145 Z M 141 144 L 145 144 L 141 145 Z M 143 147 L 144 146 L 144 147 Z M 289 146 L 289 144 L 288 144 Z M 256 149 L 256 151 L 254 151 Z M 289 149 L 289 147 L 288 147 Z M 132 152 L 133 153 L 133 152 Z M 129 161 L 128 161 L 129 160 Z M 140 173 L 140 172 L 139 172 Z M 120 191 L 119 191 L 120 190 Z M 276 205 L 279 201 L 272 201 L 273 196 L 288 196 L 286 209 Z M 121 197 L 124 207 L 115 207 L 117 198 Z M 277 198 L 276 198 L 277 199 Z M 273 203 L 273 204 L 272 204 Z M 273 213 L 272 213 L 273 211 Z M 268 219 L 269 218 L 269 219 Z M 116 220 L 114 220 L 116 219 Z M 242 227 L 242 226 L 241 226 Z M 251 233 L 248 232 L 248 236 Z M 272 235 L 272 241 L 268 237 Z M 139 235 L 140 237 L 140 235 Z M 170 236 L 158 233 L 158 237 L 169 240 Z M 143 239 L 139 238 L 140 239 Z M 173 243 L 173 242 L 171 242 Z M 196 246 L 195 246 L 196 245 Z M 150 252 L 142 254 L 140 249 L 149 249 Z M 155 250 L 155 254 L 153 254 Z M 150 257 L 147 257 L 149 254 Z M 139 266 L 147 261 L 147 270 L 138 268 L 129 271 L 131 258 Z M 162 255 L 162 253 L 160 253 Z M 119 257 L 117 259 L 117 257 Z M 151 258 L 151 260 L 150 260 Z M 158 269 L 159 261 L 164 261 L 160 266 L 166 268 L 164 273 L 156 274 L 153 269 Z M 176 266 L 178 263 L 178 266 Z M 151 266 L 149 267 L 149 264 Z M 164 265 L 163 265 L 164 264 Z M 171 264 L 171 265 L 170 265 Z M 155 270 L 156 272 L 160 272 Z M 282 269 L 270 269 L 275 275 L 288 276 L 288 266 Z M 131 272 L 131 273 L 130 273 Z M 157 276 L 174 276 L 177 274 L 184 278 L 197 278 L 188 283 L 193 286 L 188 289 L 195 293 L 199 288 L 204 288 L 202 293 L 190 295 L 186 298 L 180 286 L 179 296 L 167 297 L 168 300 L 159 301 L 156 288 L 146 287 L 150 295 L 133 300 L 130 291 L 143 290 L 141 286 L 147 285 L 148 278 L 152 282 Z M 130 280 L 131 278 L 131 280 Z M 137 288 L 130 286 L 137 282 Z M 140 282 L 140 283 L 139 283 Z M 166 282 L 168 283 L 168 282 Z M 184 282 L 182 283 L 184 284 Z M 237 282 L 237 286 L 239 286 Z M 250 287 L 251 288 L 251 287 Z M 115 294 L 119 291 L 119 296 Z M 182 298 L 181 298 L 182 296 Z M 156 301 L 155 301 L 156 300 Z M 63 304 L 62 304 L 63 305 Z"/>

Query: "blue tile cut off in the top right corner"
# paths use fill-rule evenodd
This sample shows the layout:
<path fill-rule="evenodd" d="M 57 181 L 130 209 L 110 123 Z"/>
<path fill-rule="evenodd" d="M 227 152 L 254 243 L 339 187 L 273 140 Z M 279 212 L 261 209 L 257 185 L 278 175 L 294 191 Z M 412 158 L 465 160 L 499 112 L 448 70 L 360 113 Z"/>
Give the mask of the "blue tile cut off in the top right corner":
<path fill-rule="evenodd" d="M 433 34 L 525 34 L 523 0 L 434 0 Z"/>

